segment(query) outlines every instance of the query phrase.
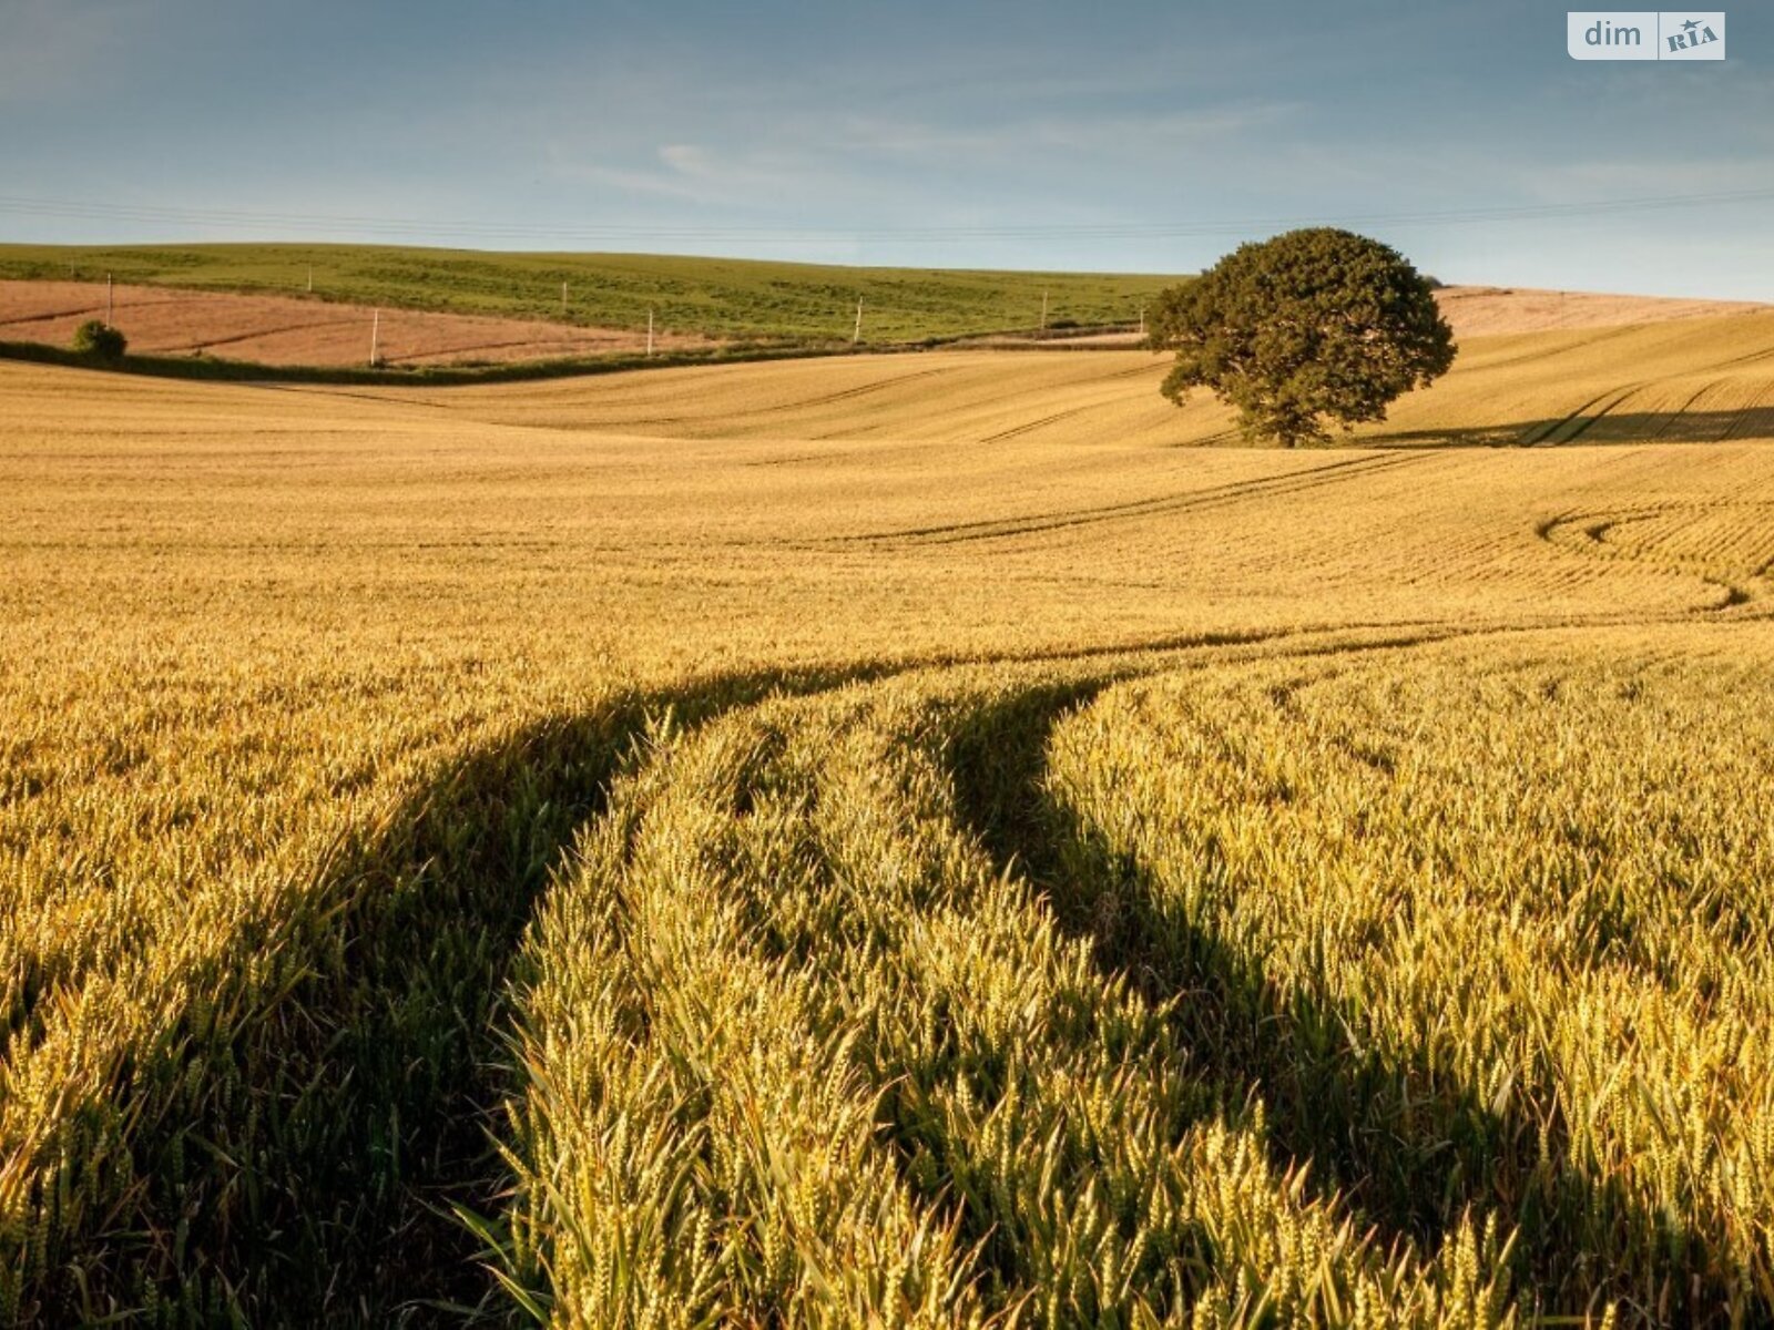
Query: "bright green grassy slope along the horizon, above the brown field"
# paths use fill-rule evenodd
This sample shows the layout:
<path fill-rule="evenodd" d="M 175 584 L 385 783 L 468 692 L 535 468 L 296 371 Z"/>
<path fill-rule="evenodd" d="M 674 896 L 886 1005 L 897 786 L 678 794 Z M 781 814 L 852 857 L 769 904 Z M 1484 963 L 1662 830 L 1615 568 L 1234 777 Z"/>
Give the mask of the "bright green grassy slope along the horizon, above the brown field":
<path fill-rule="evenodd" d="M 1034 328 L 1048 321 L 1132 323 L 1174 277 L 944 271 L 699 259 L 651 254 L 498 254 L 383 245 L 0 245 L 0 277 L 145 282 L 291 294 L 408 309 L 559 317 L 568 284 L 575 323 L 660 326 L 717 337 L 848 340 L 857 298 L 864 337 L 924 337 Z"/>

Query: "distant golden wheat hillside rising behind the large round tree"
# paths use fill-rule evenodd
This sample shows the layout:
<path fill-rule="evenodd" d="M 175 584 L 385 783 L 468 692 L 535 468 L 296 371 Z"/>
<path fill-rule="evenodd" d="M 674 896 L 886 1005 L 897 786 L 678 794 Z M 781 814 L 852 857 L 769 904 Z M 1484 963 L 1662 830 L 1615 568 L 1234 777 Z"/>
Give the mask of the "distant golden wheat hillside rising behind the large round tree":
<path fill-rule="evenodd" d="M 781 440 L 878 463 L 882 449 L 1008 440 L 1128 450 L 1236 442 L 1208 394 L 1158 395 L 1148 351 L 930 351 L 390 390 L 440 411 L 651 438 Z M 1453 371 L 1354 442 L 1529 445 L 1774 438 L 1774 310 L 1465 337 Z"/>

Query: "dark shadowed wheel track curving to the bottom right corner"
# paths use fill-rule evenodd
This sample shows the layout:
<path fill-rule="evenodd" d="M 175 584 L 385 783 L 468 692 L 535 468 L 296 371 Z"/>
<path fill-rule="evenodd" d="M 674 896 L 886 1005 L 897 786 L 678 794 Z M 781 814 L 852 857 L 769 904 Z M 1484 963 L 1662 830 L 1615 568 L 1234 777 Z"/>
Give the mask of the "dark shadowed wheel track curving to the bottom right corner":
<path fill-rule="evenodd" d="M 958 814 L 1001 871 L 1015 867 L 1066 933 L 1093 943 L 1107 975 L 1151 1000 L 1183 998 L 1171 1018 L 1181 1043 L 1222 1103 L 1263 1099 L 1276 1163 L 1309 1160 L 1315 1192 L 1359 1209 L 1382 1247 L 1435 1250 L 1464 1215 L 1497 1211 L 1520 1229 L 1517 1287 L 1545 1310 L 1593 1310 L 1609 1296 L 1627 1323 L 1737 1323 L 1721 1256 L 1572 1160 L 1563 1121 L 1543 1128 L 1529 1108 L 1531 1098 L 1552 1103 L 1550 1091 L 1522 1087 L 1497 1112 L 1425 1050 L 1359 1043 L 1357 1011 L 1281 990 L 1260 958 L 1187 919 L 1142 865 L 1048 794 L 1054 725 L 1111 683 L 1038 688 L 960 718 L 946 757 Z M 1739 1286 L 1739 1307 L 1747 1296 Z M 1770 1310 L 1751 1300 L 1749 1319 Z"/>

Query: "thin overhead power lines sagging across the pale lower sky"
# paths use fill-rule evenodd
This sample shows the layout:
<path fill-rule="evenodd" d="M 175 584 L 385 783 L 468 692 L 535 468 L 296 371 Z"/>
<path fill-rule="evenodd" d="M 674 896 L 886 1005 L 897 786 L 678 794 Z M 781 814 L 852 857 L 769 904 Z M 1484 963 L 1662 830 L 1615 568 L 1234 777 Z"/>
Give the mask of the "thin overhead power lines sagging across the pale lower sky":
<path fill-rule="evenodd" d="M 580 225 L 552 227 L 518 222 L 353 216 L 337 213 L 271 213 L 247 209 L 163 207 L 73 199 L 0 197 L 0 215 L 85 222 L 172 223 L 291 232 L 302 229 L 353 231 L 376 238 L 463 236 L 506 241 L 965 241 L 965 239 L 1171 239 L 1190 236 L 1249 236 L 1299 225 L 1471 225 L 1593 218 L 1678 207 L 1721 207 L 1774 200 L 1774 190 L 1604 199 L 1566 204 L 1488 206 L 1446 211 L 1346 213 L 1316 216 L 1254 216 L 1226 222 L 1103 222 L 969 227 L 694 227 L 694 225 Z"/>

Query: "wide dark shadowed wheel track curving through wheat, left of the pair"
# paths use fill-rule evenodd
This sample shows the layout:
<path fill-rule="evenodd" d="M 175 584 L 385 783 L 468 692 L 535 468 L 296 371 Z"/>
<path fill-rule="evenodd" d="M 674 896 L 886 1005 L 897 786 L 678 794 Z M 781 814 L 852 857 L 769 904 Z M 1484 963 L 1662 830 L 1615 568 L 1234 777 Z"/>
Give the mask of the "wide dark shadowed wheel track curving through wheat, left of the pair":
<path fill-rule="evenodd" d="M 25 1305 L 50 1323 L 509 1319 L 449 1206 L 498 1206 L 500 1004 L 552 867 L 653 718 L 880 672 L 727 676 L 553 718 L 346 844 L 293 936 L 231 940 L 213 990 L 126 1071 L 128 1185 Z"/>

